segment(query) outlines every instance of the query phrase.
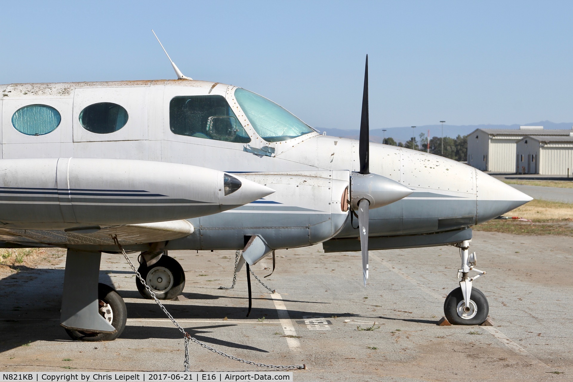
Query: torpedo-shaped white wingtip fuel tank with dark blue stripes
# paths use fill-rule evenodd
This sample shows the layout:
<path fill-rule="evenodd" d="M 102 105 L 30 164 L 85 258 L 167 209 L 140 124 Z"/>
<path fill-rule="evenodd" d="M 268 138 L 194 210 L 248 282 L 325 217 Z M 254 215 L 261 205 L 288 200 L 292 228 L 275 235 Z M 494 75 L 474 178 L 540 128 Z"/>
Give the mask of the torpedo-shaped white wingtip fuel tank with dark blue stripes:
<path fill-rule="evenodd" d="M 274 192 L 223 171 L 135 159 L 0 159 L 0 170 L 0 222 L 5 227 L 42 223 L 65 229 L 189 219 Z M 225 178 L 236 182 L 233 190 L 225 187 Z"/>

